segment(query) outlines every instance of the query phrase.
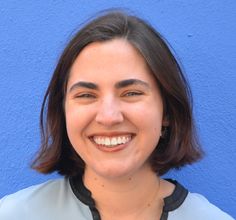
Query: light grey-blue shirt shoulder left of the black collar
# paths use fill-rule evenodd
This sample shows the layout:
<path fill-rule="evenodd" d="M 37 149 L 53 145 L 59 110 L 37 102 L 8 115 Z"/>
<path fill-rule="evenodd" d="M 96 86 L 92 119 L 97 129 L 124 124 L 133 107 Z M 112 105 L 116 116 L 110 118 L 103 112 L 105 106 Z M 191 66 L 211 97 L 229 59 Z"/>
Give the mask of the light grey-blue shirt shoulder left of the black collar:
<path fill-rule="evenodd" d="M 73 205 L 83 209 L 73 195 L 68 179 L 50 180 L 3 197 L 0 200 L 0 219 L 64 219 L 60 210 L 71 210 Z M 75 213 L 69 213 L 73 219 Z"/>

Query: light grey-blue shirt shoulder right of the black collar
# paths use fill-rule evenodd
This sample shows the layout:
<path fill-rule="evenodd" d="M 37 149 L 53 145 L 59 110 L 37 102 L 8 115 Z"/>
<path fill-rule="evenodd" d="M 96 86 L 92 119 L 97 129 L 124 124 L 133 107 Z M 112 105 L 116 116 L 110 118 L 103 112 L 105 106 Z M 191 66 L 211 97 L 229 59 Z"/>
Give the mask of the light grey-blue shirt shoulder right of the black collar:
<path fill-rule="evenodd" d="M 203 195 L 189 192 L 179 208 L 171 213 L 171 219 L 220 219 L 233 220 L 231 216 L 210 203 Z"/>

